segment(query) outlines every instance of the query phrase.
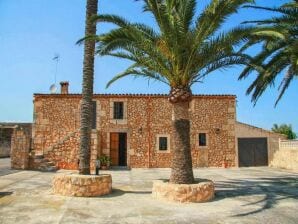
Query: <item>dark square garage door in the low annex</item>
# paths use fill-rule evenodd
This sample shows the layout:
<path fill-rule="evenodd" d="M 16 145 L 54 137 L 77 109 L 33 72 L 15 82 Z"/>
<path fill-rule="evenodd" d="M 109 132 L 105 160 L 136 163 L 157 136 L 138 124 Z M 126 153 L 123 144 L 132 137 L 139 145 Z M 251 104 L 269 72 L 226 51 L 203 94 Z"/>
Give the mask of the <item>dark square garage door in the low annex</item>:
<path fill-rule="evenodd" d="M 267 138 L 238 138 L 240 167 L 268 166 Z"/>

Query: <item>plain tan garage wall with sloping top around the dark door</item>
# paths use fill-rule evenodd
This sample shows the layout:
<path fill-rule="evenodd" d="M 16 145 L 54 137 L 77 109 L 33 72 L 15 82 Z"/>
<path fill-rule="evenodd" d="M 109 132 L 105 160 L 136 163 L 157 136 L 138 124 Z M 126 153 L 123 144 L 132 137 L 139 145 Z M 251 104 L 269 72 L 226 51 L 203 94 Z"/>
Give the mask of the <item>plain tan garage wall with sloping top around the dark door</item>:
<path fill-rule="evenodd" d="M 279 139 L 286 139 L 286 136 L 253 127 L 240 122 L 236 123 L 236 152 L 238 165 L 238 138 L 267 138 L 268 144 L 268 164 L 270 165 L 274 154 L 279 150 Z"/>

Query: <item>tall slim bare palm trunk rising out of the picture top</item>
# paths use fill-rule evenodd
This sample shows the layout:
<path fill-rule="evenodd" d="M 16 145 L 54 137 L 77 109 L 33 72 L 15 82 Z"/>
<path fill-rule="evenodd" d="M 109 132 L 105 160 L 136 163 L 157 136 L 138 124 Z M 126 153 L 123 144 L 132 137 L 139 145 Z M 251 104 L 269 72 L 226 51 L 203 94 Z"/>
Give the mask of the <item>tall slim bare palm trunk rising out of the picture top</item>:
<path fill-rule="evenodd" d="M 96 24 L 90 18 L 97 14 L 98 0 L 87 0 L 85 36 L 96 34 Z M 86 40 L 84 47 L 83 89 L 81 102 L 81 129 L 80 129 L 80 174 L 90 174 L 90 145 L 91 145 L 91 108 L 94 80 L 94 51 L 95 41 Z"/>

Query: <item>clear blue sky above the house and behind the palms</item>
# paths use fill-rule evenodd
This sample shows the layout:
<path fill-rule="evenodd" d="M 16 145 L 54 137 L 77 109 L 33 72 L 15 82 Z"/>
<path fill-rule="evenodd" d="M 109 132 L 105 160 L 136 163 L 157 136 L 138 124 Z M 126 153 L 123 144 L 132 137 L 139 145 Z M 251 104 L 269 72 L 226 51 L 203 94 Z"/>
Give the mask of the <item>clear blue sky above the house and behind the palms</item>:
<path fill-rule="evenodd" d="M 33 93 L 49 93 L 54 83 L 56 53 L 60 55 L 57 84 L 70 82 L 72 93 L 81 92 L 83 47 L 75 42 L 84 35 L 85 0 L 0 0 L 0 122 L 32 121 Z M 154 25 L 148 14 L 142 13 L 141 2 L 134 0 L 99 0 L 100 13 L 113 13 L 130 21 Z M 208 0 L 198 2 L 198 12 Z M 281 5 L 286 0 L 257 0 L 258 5 Z M 263 11 L 241 9 L 229 18 L 224 28 L 239 22 L 266 18 Z M 98 26 L 98 32 L 110 27 Z M 252 51 L 257 50 L 253 49 Z M 96 93 L 168 93 L 168 87 L 157 82 L 125 78 L 105 89 L 105 84 L 129 62 L 103 57 L 96 58 Z M 245 90 L 253 76 L 238 81 L 241 67 L 210 74 L 202 84 L 193 87 L 196 94 L 237 95 L 237 119 L 270 129 L 273 123 L 290 123 L 298 132 L 297 80 L 274 108 L 277 89 L 272 88 L 254 107 Z M 296 105 L 296 106 L 295 106 Z"/>

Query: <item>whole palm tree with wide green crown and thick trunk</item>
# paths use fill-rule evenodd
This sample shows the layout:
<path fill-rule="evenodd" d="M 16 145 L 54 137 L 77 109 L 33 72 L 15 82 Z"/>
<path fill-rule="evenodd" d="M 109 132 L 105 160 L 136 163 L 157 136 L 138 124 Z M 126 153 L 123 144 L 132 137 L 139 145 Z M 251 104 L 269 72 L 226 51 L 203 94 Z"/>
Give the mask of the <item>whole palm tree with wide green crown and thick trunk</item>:
<path fill-rule="evenodd" d="M 130 23 L 117 15 L 99 15 L 97 22 L 116 25 L 96 36 L 96 53 L 133 62 L 108 84 L 128 76 L 141 76 L 170 86 L 173 106 L 172 171 L 170 182 L 194 182 L 190 149 L 189 102 L 191 86 L 217 69 L 246 64 L 247 59 L 233 51 L 246 28 L 218 32 L 225 19 L 251 0 L 213 0 L 196 17 L 195 0 L 143 0 L 144 11 L 156 21 L 157 29 Z"/>

